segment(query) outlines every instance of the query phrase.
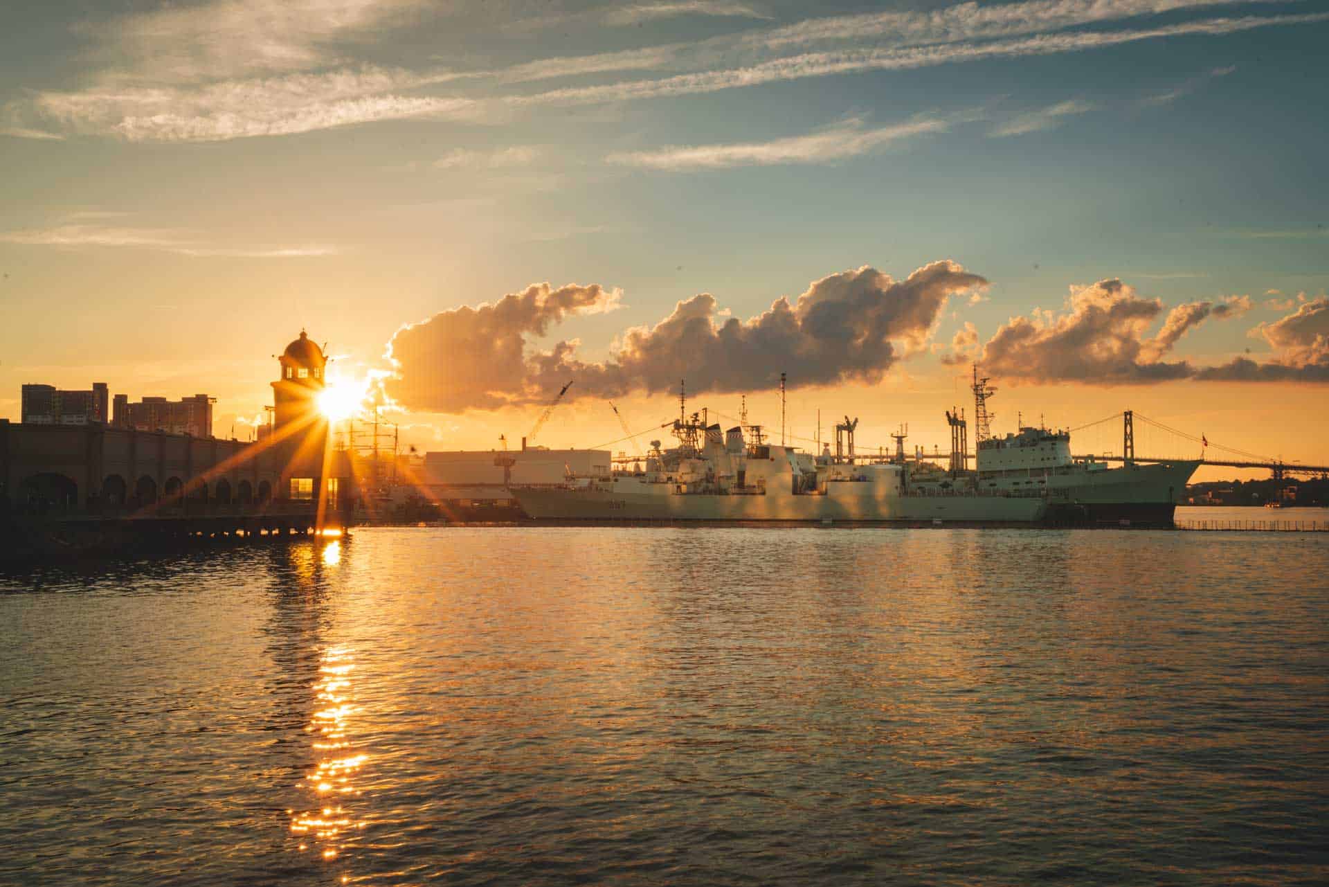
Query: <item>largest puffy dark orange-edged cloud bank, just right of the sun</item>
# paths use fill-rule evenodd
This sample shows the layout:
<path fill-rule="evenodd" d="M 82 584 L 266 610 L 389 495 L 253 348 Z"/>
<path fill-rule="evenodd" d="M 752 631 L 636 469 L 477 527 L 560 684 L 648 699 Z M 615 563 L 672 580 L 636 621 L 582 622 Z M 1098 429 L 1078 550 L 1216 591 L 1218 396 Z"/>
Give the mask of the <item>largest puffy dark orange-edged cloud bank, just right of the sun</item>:
<path fill-rule="evenodd" d="M 388 392 L 412 410 L 462 412 L 540 403 L 569 379 L 575 396 L 667 391 L 683 378 L 688 391 L 756 391 L 777 384 L 780 372 L 795 387 L 870 384 L 921 347 L 948 297 L 986 285 L 950 261 L 900 282 L 864 266 L 813 282 L 792 303 L 781 297 L 748 320 L 726 317 L 702 293 L 654 326 L 625 331 L 603 362 L 581 360 L 574 339 L 532 350 L 529 339 L 607 298 L 598 286 L 540 285 L 403 327 L 389 346 L 396 375 Z M 552 302 L 554 294 L 563 295 Z"/>

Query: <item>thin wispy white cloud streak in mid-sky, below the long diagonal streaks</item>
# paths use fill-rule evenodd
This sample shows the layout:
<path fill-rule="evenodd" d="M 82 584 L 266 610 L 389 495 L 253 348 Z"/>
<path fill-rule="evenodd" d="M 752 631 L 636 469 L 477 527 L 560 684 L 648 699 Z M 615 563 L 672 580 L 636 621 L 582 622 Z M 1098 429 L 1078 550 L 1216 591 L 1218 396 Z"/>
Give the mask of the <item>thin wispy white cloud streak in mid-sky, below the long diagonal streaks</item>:
<path fill-rule="evenodd" d="M 863 120 L 852 118 L 809 136 L 776 138 L 768 142 L 670 146 L 610 154 L 605 160 L 623 166 L 642 166 L 675 173 L 731 166 L 827 164 L 878 150 L 902 138 L 945 132 L 948 128 L 949 125 L 944 120 L 918 118 L 892 126 L 868 129 Z"/>

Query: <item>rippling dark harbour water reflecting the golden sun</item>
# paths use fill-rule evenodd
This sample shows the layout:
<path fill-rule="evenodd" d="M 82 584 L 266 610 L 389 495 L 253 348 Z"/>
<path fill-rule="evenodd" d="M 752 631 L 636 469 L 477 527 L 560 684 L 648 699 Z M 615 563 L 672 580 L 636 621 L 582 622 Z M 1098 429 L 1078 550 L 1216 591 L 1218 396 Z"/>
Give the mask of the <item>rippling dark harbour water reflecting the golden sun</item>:
<path fill-rule="evenodd" d="M 1326 535 L 650 528 L 0 578 L 0 883 L 1325 883 L 1326 585 Z"/>

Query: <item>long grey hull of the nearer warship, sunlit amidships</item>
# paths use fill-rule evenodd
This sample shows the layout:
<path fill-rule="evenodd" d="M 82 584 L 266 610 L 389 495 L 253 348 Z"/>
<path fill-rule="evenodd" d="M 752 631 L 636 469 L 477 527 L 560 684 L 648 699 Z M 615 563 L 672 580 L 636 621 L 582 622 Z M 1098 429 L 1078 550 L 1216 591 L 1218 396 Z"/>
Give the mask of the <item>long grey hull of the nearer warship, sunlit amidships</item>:
<path fill-rule="evenodd" d="M 880 523 L 1033 525 L 1047 503 L 1014 496 L 642 495 L 610 489 L 513 489 L 536 520 Z"/>

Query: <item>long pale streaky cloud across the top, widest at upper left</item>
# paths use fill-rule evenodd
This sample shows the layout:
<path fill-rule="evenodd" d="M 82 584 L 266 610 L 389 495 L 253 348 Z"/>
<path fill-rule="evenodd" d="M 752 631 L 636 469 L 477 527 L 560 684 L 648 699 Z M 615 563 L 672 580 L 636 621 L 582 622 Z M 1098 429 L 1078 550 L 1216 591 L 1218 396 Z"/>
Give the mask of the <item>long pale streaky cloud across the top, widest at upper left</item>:
<path fill-rule="evenodd" d="M 1236 0 L 1231 0 L 1236 1 Z M 1229 0 L 1034 0 L 958 4 L 934 12 L 812 19 L 692 44 L 567 59 L 498 70 L 405 72 L 351 64 L 352 51 L 412 21 L 424 0 L 215 0 L 128 16 L 105 28 L 112 60 L 85 89 L 37 90 L 5 106 L 11 129 L 130 141 L 221 141 L 287 136 L 387 120 L 502 120 L 517 109 L 704 94 L 768 82 L 902 70 L 985 59 L 1082 52 L 1185 35 L 1329 20 L 1329 13 L 1203 19 L 1150 29 L 1058 31 Z M 738 9 L 744 4 L 663 4 Z M 634 7 L 645 8 L 645 7 Z M 661 7 L 663 8 L 663 7 Z M 436 7 L 431 7 L 436 9 Z M 443 13 L 452 9 L 443 7 Z M 1021 36 L 1026 35 L 1026 36 Z M 1015 39 L 1011 39 L 1015 37 Z M 872 41 L 888 45 L 870 45 Z M 845 43 L 856 45 L 839 45 Z M 832 48 L 780 55 L 793 48 Z M 735 63 L 740 61 L 735 66 Z M 728 65 L 728 66 L 720 66 Z M 494 85 L 614 70 L 675 76 L 496 94 Z M 485 81 L 468 93 L 466 82 Z M 460 84 L 456 94 L 421 94 Z"/>

